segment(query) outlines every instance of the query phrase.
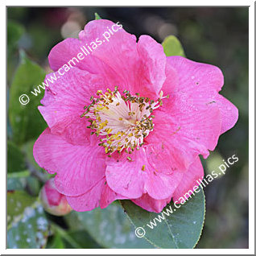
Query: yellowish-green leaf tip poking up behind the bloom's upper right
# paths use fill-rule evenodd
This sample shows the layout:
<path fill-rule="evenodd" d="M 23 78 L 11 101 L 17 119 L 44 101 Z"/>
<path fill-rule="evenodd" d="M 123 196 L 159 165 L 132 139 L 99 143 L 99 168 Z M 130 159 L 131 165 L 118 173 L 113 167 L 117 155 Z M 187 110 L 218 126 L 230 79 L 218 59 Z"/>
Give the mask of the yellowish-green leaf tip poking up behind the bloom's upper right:
<path fill-rule="evenodd" d="M 183 56 L 185 57 L 184 49 L 179 41 L 174 35 L 167 36 L 163 40 L 163 52 L 166 56 Z"/>

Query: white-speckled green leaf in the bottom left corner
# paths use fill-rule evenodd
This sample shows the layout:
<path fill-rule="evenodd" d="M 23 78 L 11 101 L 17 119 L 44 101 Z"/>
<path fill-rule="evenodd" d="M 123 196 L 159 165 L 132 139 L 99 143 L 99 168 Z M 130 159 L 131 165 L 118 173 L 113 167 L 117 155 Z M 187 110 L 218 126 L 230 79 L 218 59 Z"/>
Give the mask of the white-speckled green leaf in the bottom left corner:
<path fill-rule="evenodd" d="M 48 222 L 43 207 L 26 192 L 7 193 L 7 248 L 44 248 Z"/>

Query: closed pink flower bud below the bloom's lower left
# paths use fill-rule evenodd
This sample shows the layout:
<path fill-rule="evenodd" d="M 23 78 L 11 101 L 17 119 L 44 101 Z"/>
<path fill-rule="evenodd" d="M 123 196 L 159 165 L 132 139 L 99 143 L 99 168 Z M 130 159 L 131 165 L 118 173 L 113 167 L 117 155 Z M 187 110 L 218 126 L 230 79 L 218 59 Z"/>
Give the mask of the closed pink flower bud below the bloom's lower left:
<path fill-rule="evenodd" d="M 55 216 L 64 216 L 72 211 L 66 196 L 57 191 L 54 178 L 47 180 L 39 194 L 43 209 Z"/>

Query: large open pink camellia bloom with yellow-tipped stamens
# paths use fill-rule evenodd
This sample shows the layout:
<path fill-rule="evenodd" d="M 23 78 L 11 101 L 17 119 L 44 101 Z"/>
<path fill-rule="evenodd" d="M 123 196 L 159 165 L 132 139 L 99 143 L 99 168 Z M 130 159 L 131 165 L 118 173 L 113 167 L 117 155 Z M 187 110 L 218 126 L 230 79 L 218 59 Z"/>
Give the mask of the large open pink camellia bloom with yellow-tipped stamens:
<path fill-rule="evenodd" d="M 234 126 L 237 108 L 218 94 L 224 83 L 219 68 L 166 57 L 150 36 L 137 42 L 114 26 L 92 21 L 79 39 L 52 48 L 56 76 L 69 60 L 75 65 L 45 92 L 39 111 L 49 127 L 34 156 L 56 173 L 56 188 L 76 211 L 130 199 L 159 213 L 202 178 L 199 155 L 207 158 Z M 109 42 L 73 59 L 110 27 Z"/>

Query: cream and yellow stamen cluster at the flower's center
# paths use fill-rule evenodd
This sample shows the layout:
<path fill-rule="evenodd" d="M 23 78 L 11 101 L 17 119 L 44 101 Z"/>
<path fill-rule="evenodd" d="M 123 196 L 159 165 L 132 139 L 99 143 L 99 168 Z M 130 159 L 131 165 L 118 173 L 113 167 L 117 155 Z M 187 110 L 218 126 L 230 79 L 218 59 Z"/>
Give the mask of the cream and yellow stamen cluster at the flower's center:
<path fill-rule="evenodd" d="M 113 92 L 98 90 L 97 97 L 90 98 L 91 104 L 85 106 L 85 113 L 81 115 L 89 119 L 87 128 L 93 130 L 91 134 L 102 136 L 99 146 L 105 147 L 109 156 L 114 151 L 131 153 L 139 149 L 154 128 L 152 112 L 163 104 L 163 92 L 159 93 L 157 101 L 135 95 L 126 90 L 121 94 L 118 87 Z"/>

